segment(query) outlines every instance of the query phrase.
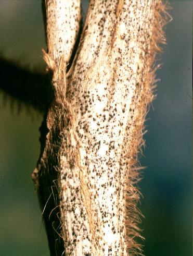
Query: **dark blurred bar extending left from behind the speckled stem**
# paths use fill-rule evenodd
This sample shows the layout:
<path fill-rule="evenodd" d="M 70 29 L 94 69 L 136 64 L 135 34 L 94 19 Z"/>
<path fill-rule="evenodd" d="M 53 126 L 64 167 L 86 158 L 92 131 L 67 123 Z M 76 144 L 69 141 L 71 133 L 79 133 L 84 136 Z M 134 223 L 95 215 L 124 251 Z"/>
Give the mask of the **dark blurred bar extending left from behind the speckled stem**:
<path fill-rule="evenodd" d="M 0 70 L 0 90 L 42 113 L 47 111 L 54 97 L 49 74 L 20 68 L 3 58 L 0 58 Z"/>

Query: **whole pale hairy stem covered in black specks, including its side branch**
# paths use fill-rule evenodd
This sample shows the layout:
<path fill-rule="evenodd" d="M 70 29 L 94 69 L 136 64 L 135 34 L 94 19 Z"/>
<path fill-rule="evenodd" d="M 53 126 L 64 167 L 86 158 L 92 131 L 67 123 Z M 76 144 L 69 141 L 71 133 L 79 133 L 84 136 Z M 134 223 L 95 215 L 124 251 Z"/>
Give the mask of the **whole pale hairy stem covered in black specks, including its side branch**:
<path fill-rule="evenodd" d="M 41 173 L 48 166 L 57 173 L 57 195 L 52 196 L 57 200 L 48 217 L 58 209 L 57 235 L 65 248 L 58 252 L 136 255 L 141 253 L 136 242 L 137 153 L 153 99 L 152 66 L 159 43 L 165 41 L 165 5 L 160 0 L 91 0 L 74 62 L 66 72 L 80 3 L 46 3 L 44 59 L 53 72 L 55 99 L 39 165 L 44 166 Z"/>

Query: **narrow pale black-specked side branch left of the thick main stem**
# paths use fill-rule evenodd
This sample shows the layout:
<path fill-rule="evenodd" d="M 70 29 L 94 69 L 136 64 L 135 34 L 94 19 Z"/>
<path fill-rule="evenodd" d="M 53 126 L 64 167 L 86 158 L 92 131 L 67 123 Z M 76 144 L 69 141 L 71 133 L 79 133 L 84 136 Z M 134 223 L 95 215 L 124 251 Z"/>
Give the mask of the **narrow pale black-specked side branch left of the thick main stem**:
<path fill-rule="evenodd" d="M 47 47 L 50 58 L 59 63 L 65 56 L 68 64 L 79 32 L 79 0 L 46 0 Z"/>

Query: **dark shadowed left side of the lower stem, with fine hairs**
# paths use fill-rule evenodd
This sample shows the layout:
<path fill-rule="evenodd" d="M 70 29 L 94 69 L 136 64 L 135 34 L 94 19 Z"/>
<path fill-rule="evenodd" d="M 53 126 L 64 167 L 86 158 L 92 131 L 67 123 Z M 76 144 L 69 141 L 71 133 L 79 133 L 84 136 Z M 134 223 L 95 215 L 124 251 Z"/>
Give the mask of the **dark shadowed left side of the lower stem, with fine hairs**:
<path fill-rule="evenodd" d="M 60 235 L 60 199 L 59 199 L 59 149 L 61 140 L 57 129 L 50 135 L 46 125 L 46 115 L 40 127 L 41 153 L 37 162 L 37 194 L 48 238 L 50 255 L 61 255 L 65 251 Z M 49 134 L 52 145 L 49 145 Z M 65 254 L 63 254 L 65 255 Z"/>

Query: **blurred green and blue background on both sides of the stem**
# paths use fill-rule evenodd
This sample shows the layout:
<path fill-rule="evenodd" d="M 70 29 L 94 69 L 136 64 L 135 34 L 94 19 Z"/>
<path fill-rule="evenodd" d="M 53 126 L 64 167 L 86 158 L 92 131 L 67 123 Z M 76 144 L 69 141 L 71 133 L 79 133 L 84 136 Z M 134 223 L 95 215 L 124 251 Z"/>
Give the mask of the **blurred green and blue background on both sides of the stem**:
<path fill-rule="evenodd" d="M 83 1 L 85 4 L 86 1 Z M 170 1 L 173 21 L 166 27 L 157 75 L 157 99 L 146 123 L 147 166 L 139 187 L 145 215 L 144 254 L 191 253 L 191 47 L 192 2 Z M 0 54 L 29 69 L 43 70 L 46 48 L 40 0 L 0 1 Z M 42 115 L 0 91 L 0 255 L 49 255 L 31 172 L 40 152 Z"/>

